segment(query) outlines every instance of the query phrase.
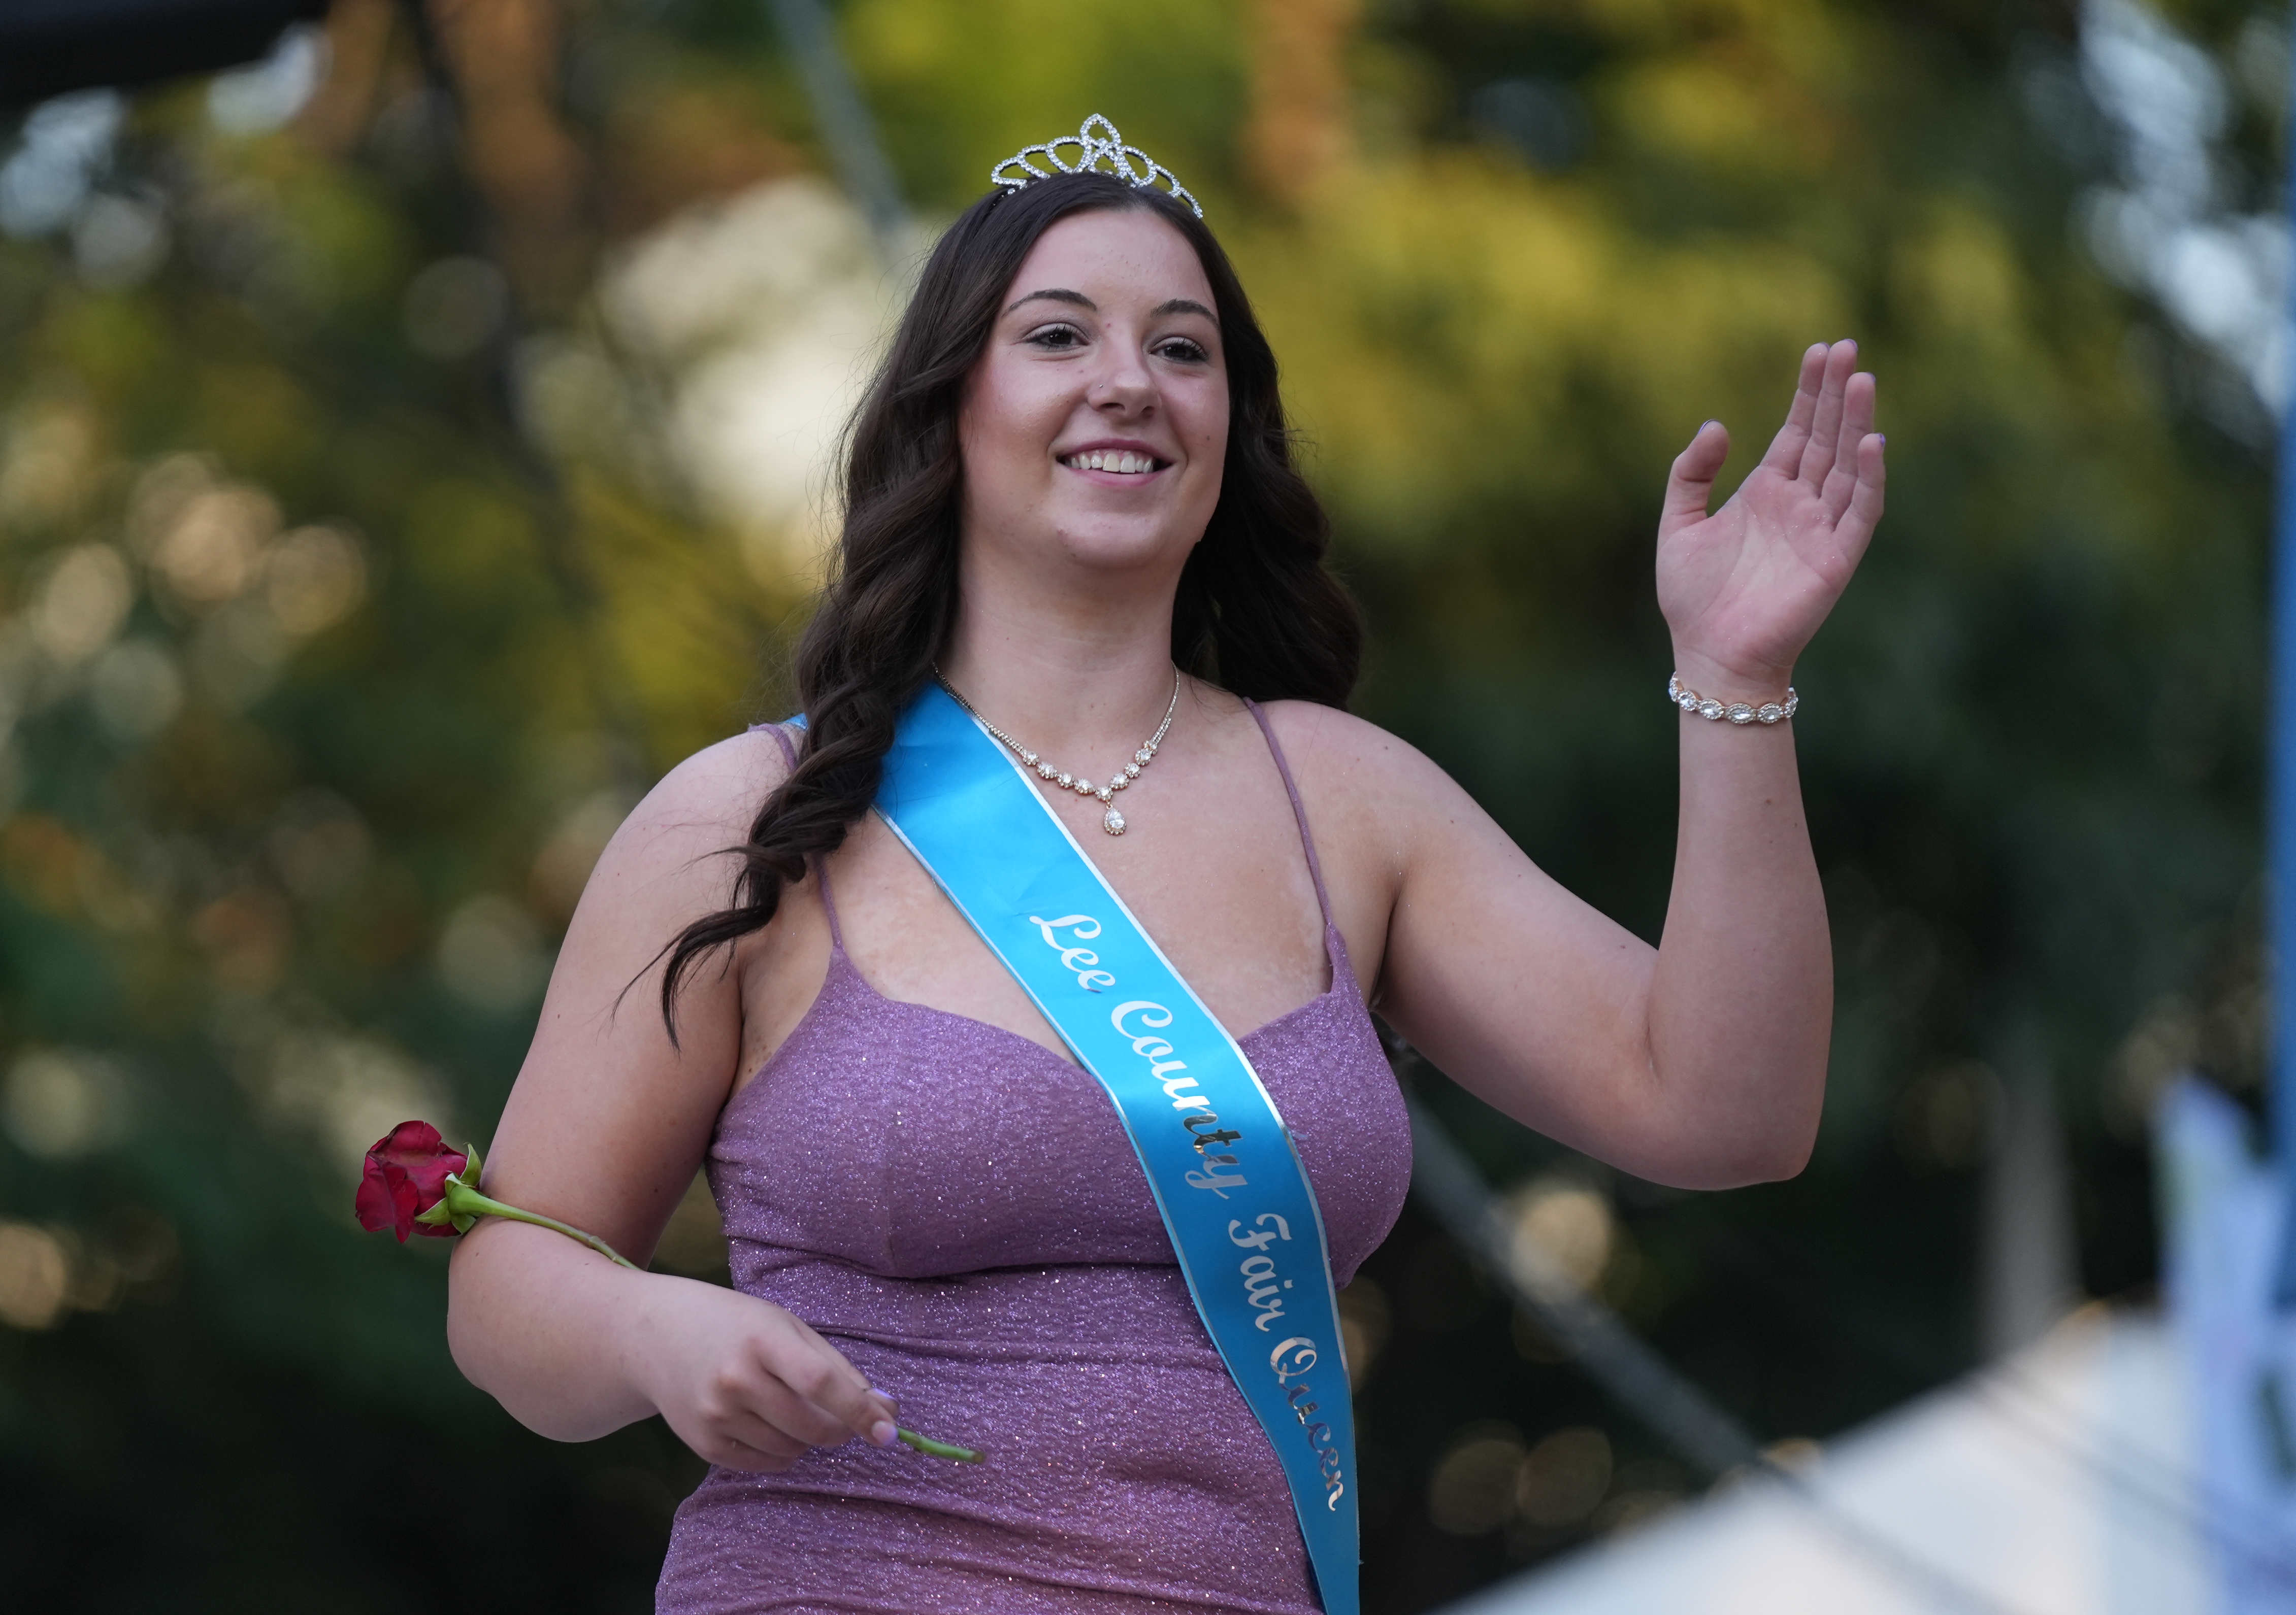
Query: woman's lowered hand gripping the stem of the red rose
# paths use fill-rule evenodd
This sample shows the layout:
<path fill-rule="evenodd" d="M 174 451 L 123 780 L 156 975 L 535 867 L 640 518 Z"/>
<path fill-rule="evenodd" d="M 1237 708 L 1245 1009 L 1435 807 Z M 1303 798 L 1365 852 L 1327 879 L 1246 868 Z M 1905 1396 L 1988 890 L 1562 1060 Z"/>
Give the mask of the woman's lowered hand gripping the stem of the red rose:
<path fill-rule="evenodd" d="M 666 1275 L 657 1275 L 666 1278 Z M 677 1438 L 721 1468 L 778 1475 L 808 1448 L 895 1441 L 895 1409 L 845 1356 L 771 1301 L 670 1278 L 654 1285 L 631 1365 Z"/>

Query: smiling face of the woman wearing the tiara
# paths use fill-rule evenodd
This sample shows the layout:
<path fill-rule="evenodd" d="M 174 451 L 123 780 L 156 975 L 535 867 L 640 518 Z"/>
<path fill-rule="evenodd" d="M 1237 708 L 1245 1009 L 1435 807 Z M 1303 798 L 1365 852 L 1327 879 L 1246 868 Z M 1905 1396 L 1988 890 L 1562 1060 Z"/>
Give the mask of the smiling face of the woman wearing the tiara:
<path fill-rule="evenodd" d="M 1148 211 L 1070 213 L 1038 236 L 964 383 L 957 440 L 969 548 L 1178 576 L 1228 447 L 1219 321 L 1187 239 Z"/>

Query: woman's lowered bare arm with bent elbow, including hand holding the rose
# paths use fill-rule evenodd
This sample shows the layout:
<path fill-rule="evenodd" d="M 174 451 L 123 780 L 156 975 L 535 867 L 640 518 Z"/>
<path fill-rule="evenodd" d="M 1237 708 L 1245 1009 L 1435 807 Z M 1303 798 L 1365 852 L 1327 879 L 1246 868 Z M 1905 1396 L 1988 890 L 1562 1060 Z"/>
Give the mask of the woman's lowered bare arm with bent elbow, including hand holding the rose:
<path fill-rule="evenodd" d="M 590 1230 L 634 1262 L 652 1255 L 732 1087 L 744 966 L 758 947 L 689 977 L 675 1046 L 657 954 L 726 902 L 721 853 L 781 775 L 769 736 L 726 741 L 680 764 L 615 833 L 558 952 L 487 1193 Z M 631 1273 L 523 1223 L 482 1220 L 461 1239 L 448 1344 L 471 1383 L 560 1441 L 657 1411 L 732 1468 L 783 1468 L 854 1434 L 891 1441 L 893 1406 L 781 1308 Z"/>

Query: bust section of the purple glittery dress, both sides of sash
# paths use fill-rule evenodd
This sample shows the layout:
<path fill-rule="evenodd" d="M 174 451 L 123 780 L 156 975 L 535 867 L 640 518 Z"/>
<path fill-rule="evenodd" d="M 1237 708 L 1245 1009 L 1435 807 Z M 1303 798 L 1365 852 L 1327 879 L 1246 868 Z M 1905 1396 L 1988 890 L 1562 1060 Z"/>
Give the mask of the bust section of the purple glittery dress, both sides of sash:
<path fill-rule="evenodd" d="M 1316 1188 L 1341 1273 L 1391 1227 L 1410 1126 L 1350 982 L 1240 1046 Z M 1164 1264 L 1155 1200 L 1100 1083 L 1010 1032 L 886 1000 L 850 963 L 709 1149 L 726 1232 L 886 1278 Z"/>

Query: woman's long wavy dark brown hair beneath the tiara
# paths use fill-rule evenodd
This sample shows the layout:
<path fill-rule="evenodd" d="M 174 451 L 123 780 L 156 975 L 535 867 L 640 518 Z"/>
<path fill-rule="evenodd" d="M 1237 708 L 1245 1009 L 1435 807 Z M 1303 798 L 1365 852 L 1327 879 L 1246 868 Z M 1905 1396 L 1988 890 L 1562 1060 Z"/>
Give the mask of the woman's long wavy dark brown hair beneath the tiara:
<path fill-rule="evenodd" d="M 758 808 L 732 902 L 664 952 L 661 1014 L 677 1037 L 677 989 L 714 950 L 762 929 L 781 890 L 836 851 L 877 796 L 893 723 L 925 688 L 957 610 L 964 463 L 957 404 L 1006 289 L 1054 223 L 1143 209 L 1203 262 L 1228 358 L 1228 457 L 1219 505 L 1180 571 L 1171 658 L 1254 700 L 1343 707 L 1364 629 L 1325 567 L 1329 523 L 1293 466 L 1277 358 L 1219 241 L 1162 190 L 1111 174 L 1061 174 L 974 202 L 941 236 L 845 445 L 845 530 L 797 647 L 806 730 L 797 769 Z"/>

